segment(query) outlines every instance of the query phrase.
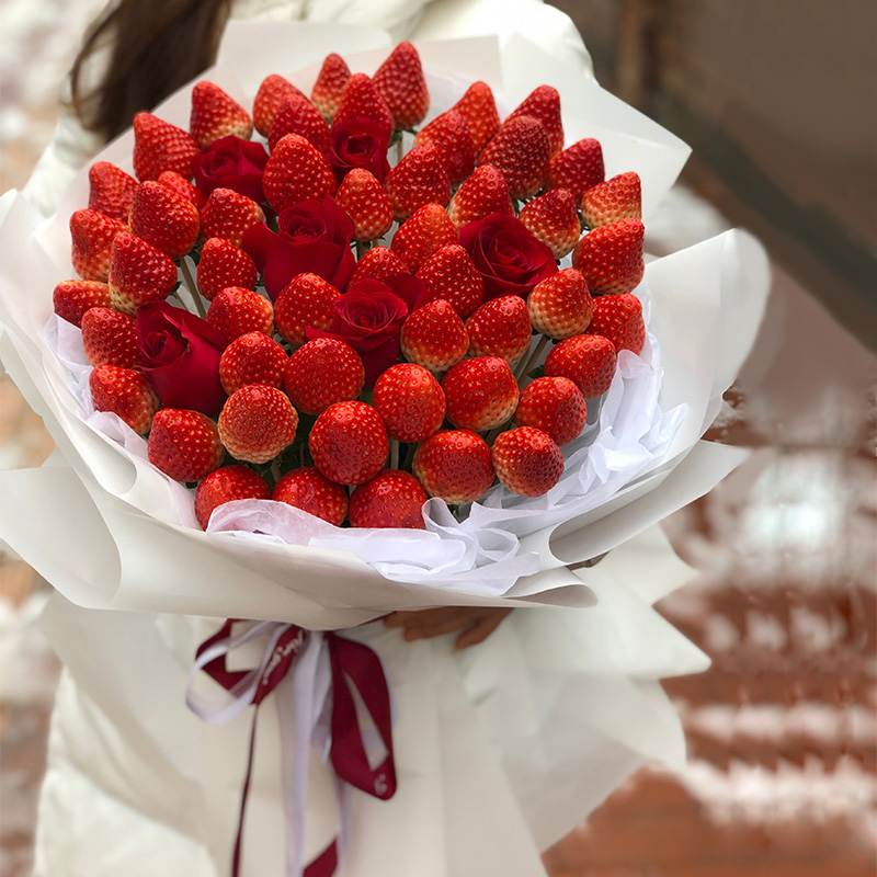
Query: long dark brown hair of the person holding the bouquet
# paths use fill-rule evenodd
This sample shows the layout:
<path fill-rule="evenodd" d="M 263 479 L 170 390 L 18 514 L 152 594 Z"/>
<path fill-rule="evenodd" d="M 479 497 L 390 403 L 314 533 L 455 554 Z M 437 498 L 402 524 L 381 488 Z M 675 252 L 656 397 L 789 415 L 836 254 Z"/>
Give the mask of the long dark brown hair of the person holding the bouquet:
<path fill-rule="evenodd" d="M 70 72 L 72 106 L 82 124 L 110 140 L 135 114 L 152 110 L 216 57 L 230 0 L 118 0 L 94 22 Z M 82 92 L 83 65 L 105 42 L 110 64 Z"/>

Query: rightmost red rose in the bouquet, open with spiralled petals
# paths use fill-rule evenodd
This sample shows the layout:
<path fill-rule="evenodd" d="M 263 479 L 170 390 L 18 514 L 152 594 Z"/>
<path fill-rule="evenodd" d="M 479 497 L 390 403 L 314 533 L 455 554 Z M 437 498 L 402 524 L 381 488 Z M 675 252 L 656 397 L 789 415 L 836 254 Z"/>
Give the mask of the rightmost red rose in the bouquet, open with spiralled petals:
<path fill-rule="evenodd" d="M 463 226 L 459 242 L 485 278 L 485 301 L 503 295 L 526 298 L 557 272 L 551 251 L 520 219 L 492 213 Z"/>

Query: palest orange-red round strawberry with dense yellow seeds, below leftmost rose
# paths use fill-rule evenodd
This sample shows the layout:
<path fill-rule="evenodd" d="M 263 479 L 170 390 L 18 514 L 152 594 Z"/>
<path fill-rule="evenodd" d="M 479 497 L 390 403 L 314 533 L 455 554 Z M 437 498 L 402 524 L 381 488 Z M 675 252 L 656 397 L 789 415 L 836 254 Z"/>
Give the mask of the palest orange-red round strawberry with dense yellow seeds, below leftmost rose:
<path fill-rule="evenodd" d="M 236 459 L 267 463 L 295 441 L 298 412 L 283 390 L 248 384 L 219 412 L 219 438 Z"/>

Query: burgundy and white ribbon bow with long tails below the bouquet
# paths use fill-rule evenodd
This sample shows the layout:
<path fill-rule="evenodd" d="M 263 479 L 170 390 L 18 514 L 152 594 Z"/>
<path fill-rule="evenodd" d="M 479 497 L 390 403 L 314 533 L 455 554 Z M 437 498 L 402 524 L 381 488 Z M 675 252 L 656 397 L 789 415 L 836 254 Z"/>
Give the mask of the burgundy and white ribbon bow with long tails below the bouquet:
<path fill-rule="evenodd" d="M 281 740 L 288 739 L 291 727 L 295 737 L 292 753 L 287 747 L 283 748 L 282 753 L 288 828 L 286 877 L 331 877 L 338 867 L 338 838 L 303 869 L 308 745 L 322 748 L 321 744 L 329 738 L 329 756 L 341 805 L 343 848 L 349 832 L 349 787 L 353 786 L 381 800 L 391 798 L 396 793 L 390 697 L 384 668 L 380 659 L 367 646 L 333 633 L 306 630 L 294 624 L 260 622 L 243 634 L 232 636 L 232 625 L 237 623 L 238 619 L 228 619 L 217 634 L 198 647 L 185 697 L 189 708 L 210 724 L 229 721 L 250 705 L 257 707 L 250 731 L 247 778 L 241 795 L 231 875 L 240 875 L 243 817 L 250 790 L 259 705 L 278 688 L 275 702 L 280 714 Z M 259 667 L 251 670 L 228 669 L 226 658 L 229 652 L 263 636 L 267 636 L 267 646 Z M 201 670 L 218 682 L 231 699 L 224 696 L 223 703 L 217 704 L 215 698 L 193 691 L 192 681 Z M 375 768 L 369 766 L 364 739 L 375 737 L 375 733 L 372 729 L 368 729 L 369 733 L 360 727 L 351 685 L 356 688 L 372 716 L 374 730 L 387 753 Z M 327 733 L 326 724 L 320 719 L 328 702 L 331 703 L 331 719 Z"/>

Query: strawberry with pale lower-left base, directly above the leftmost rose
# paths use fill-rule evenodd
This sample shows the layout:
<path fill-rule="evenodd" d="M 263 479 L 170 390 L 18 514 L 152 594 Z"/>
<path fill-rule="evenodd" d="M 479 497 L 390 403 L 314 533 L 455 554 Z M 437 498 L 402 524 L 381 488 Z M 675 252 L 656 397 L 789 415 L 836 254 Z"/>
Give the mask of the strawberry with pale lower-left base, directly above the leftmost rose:
<path fill-rule="evenodd" d="M 176 284 L 176 265 L 161 250 L 122 231 L 110 253 L 110 300 L 116 310 L 134 314 L 147 301 L 167 298 Z"/>

